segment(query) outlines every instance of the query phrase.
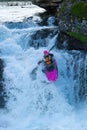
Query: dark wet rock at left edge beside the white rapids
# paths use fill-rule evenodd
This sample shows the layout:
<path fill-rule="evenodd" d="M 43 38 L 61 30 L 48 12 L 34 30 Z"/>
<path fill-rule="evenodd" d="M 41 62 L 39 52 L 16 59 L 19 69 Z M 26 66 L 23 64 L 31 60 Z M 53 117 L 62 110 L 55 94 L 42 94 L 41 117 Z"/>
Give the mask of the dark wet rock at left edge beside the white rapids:
<path fill-rule="evenodd" d="M 0 59 L 0 108 L 3 108 L 5 106 L 5 100 L 4 100 L 4 87 L 3 87 L 3 60 Z"/>

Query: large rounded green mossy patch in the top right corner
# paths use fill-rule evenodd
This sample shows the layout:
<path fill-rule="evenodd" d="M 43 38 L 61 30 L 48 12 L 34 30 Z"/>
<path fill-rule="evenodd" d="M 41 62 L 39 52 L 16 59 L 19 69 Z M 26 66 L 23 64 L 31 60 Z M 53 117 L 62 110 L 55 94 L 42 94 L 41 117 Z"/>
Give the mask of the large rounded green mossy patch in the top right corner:
<path fill-rule="evenodd" d="M 87 2 L 78 2 L 71 7 L 71 15 L 80 19 L 87 19 Z"/>

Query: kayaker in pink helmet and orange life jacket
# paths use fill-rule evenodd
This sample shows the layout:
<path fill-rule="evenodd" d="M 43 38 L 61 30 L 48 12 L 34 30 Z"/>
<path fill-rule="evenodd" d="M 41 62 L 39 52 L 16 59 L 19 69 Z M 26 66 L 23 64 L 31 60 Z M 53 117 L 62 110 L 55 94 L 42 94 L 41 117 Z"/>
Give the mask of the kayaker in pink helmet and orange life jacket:
<path fill-rule="evenodd" d="M 44 73 L 46 71 L 52 71 L 54 69 L 54 55 L 52 53 L 49 53 L 47 50 L 44 50 L 43 53 L 44 53 L 43 59 L 38 62 L 38 65 L 40 63 L 43 63 L 42 71 Z"/>

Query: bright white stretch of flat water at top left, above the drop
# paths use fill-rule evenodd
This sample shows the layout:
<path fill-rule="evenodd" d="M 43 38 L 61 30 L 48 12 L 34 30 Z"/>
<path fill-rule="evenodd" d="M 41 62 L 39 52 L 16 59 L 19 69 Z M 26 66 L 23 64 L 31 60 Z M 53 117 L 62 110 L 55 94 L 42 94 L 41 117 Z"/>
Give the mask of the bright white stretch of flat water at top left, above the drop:
<path fill-rule="evenodd" d="M 12 4 L 13 2 L 2 2 L 0 3 L 0 22 L 18 22 L 24 21 L 29 17 L 34 16 L 37 13 L 44 12 L 45 9 L 42 9 L 36 5 L 33 5 L 30 2 L 27 2 L 26 5 L 24 3 L 17 3 L 19 6 L 7 6 L 7 4 Z M 36 17 L 35 19 L 38 19 Z"/>

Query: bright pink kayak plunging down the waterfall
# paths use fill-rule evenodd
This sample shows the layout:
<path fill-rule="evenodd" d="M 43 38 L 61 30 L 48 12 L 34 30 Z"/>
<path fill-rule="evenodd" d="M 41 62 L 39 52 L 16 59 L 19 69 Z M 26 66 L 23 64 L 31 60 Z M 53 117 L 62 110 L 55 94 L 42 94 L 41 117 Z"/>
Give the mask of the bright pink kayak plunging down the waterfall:
<path fill-rule="evenodd" d="M 49 67 L 46 67 L 45 74 L 47 79 L 51 82 L 58 79 L 58 67 L 56 61 L 54 61 Z"/>

